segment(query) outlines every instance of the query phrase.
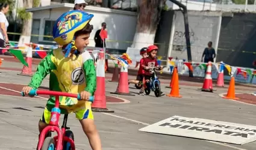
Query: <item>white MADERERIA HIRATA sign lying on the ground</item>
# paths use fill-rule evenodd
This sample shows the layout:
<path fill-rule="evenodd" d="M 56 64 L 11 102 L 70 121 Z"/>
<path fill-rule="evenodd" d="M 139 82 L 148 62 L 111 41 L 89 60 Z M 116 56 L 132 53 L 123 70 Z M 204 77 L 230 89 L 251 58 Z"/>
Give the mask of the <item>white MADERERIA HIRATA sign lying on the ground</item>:
<path fill-rule="evenodd" d="M 256 140 L 256 126 L 172 116 L 139 131 L 243 145 Z"/>

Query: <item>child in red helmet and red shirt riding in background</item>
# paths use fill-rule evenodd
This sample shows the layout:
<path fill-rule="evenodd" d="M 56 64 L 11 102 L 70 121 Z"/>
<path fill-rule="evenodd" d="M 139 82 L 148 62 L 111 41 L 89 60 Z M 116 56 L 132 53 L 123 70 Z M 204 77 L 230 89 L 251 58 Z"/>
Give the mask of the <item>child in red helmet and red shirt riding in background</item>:
<path fill-rule="evenodd" d="M 155 45 L 149 46 L 146 49 L 146 52 L 148 53 L 148 57 L 143 58 L 142 67 L 145 71 L 144 77 L 145 77 L 146 85 L 148 85 L 148 82 L 150 82 L 151 77 L 154 76 L 154 68 L 156 67 L 157 70 L 162 69 L 162 67 L 160 67 L 160 65 L 158 65 L 157 63 L 157 58 L 156 58 L 157 51 L 158 51 L 157 46 Z M 161 95 L 164 95 L 164 93 L 161 92 Z"/>

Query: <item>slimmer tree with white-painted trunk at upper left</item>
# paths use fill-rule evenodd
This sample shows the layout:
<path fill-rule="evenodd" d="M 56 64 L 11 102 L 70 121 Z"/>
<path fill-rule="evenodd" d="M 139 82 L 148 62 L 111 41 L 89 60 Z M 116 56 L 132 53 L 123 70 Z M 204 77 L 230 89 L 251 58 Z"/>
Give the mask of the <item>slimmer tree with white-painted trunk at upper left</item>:
<path fill-rule="evenodd" d="M 22 19 L 22 33 L 19 38 L 19 45 L 24 43 L 30 43 L 31 29 L 32 29 L 32 18 L 33 14 L 26 11 L 26 8 L 38 7 L 40 0 L 23 0 L 23 8 L 19 8 L 17 13 L 19 18 Z"/>

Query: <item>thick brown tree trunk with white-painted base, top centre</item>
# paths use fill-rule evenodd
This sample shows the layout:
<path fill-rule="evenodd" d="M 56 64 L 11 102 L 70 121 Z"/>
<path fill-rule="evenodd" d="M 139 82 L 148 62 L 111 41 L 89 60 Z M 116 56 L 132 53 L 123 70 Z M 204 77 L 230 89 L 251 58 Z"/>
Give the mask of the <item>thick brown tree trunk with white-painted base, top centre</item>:
<path fill-rule="evenodd" d="M 155 32 L 160 21 L 161 10 L 166 0 L 137 0 L 138 19 L 131 47 L 141 49 L 154 44 Z"/>

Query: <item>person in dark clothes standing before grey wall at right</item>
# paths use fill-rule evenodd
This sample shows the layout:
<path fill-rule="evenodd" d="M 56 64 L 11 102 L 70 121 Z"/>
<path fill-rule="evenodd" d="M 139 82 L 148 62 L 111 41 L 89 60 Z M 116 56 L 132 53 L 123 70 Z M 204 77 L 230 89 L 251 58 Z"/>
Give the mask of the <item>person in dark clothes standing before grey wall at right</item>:
<path fill-rule="evenodd" d="M 204 57 L 204 62 L 208 63 L 208 61 L 213 62 L 213 59 L 216 57 L 215 50 L 213 49 L 213 43 L 211 41 L 208 42 L 208 47 L 204 49 L 204 53 L 202 53 L 202 58 Z M 203 60 L 201 60 L 203 62 Z"/>

